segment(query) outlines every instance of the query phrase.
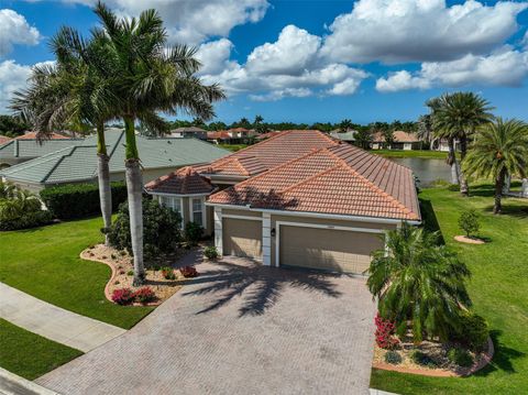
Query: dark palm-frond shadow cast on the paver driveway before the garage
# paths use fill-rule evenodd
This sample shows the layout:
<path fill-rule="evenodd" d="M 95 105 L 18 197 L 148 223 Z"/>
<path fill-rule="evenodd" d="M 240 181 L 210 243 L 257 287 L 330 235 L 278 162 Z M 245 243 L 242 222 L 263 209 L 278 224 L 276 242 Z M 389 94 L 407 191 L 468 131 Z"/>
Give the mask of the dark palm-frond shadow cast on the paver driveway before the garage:
<path fill-rule="evenodd" d="M 239 317 L 246 315 L 260 316 L 273 307 L 285 287 L 301 288 L 306 292 L 318 292 L 329 297 L 339 297 L 341 293 L 331 282 L 337 275 L 316 272 L 297 271 L 263 266 L 258 262 L 235 264 L 217 262 L 218 268 L 201 272 L 201 281 L 195 284 L 206 284 L 195 290 L 184 293 L 184 296 L 215 294 L 217 297 L 206 308 L 197 314 L 219 309 L 235 297 L 242 297 Z M 190 282 L 193 284 L 193 282 Z"/>

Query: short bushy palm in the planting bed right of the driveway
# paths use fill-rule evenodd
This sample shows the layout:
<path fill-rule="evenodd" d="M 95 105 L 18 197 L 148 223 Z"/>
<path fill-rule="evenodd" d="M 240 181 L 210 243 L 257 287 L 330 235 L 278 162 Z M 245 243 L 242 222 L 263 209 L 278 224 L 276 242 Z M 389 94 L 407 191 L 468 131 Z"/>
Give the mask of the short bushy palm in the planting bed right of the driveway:
<path fill-rule="evenodd" d="M 403 223 L 386 233 L 386 248 L 374 252 L 367 270 L 367 286 L 378 298 L 380 315 L 394 320 L 398 334 L 407 321 L 419 342 L 448 338 L 458 328 L 461 306 L 470 306 L 464 279 L 468 267 L 457 255 L 437 244 L 437 233 Z"/>

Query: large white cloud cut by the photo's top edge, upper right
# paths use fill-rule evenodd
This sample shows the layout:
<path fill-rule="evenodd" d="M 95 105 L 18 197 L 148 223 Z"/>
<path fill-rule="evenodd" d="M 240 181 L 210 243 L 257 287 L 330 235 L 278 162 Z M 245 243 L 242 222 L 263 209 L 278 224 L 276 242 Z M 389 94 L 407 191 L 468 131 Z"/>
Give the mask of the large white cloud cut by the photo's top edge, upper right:
<path fill-rule="evenodd" d="M 528 2 L 484 6 L 474 0 L 360 0 L 330 25 L 322 54 L 339 62 L 455 59 L 502 45 L 518 29 Z"/>

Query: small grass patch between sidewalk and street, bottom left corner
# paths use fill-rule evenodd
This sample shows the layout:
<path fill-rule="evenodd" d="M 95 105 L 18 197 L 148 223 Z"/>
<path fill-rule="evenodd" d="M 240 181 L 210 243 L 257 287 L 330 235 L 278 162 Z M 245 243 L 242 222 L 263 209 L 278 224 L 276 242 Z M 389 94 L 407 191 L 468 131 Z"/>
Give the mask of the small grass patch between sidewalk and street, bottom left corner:
<path fill-rule="evenodd" d="M 0 318 L 0 366 L 34 380 L 82 354 Z"/>

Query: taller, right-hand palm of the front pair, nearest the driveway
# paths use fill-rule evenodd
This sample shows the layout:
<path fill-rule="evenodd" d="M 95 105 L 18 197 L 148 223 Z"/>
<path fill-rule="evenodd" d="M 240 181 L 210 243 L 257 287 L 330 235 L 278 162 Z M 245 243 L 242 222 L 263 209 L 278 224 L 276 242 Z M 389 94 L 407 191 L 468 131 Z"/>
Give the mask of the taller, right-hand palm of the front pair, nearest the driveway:
<path fill-rule="evenodd" d="M 105 4 L 95 8 L 102 29 L 92 29 L 100 45 L 85 51 L 85 62 L 109 81 L 117 98 L 113 112 L 124 121 L 125 177 L 129 196 L 134 285 L 144 279 L 142 174 L 135 140 L 135 122 L 162 128 L 165 122 L 154 113 L 189 114 L 209 120 L 211 102 L 224 98 L 217 86 L 205 86 L 195 76 L 201 66 L 194 57 L 196 48 L 185 45 L 167 47 L 167 34 L 155 10 L 146 10 L 139 19 L 118 19 Z"/>

